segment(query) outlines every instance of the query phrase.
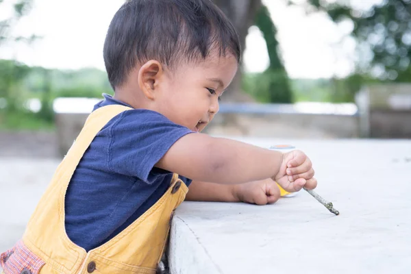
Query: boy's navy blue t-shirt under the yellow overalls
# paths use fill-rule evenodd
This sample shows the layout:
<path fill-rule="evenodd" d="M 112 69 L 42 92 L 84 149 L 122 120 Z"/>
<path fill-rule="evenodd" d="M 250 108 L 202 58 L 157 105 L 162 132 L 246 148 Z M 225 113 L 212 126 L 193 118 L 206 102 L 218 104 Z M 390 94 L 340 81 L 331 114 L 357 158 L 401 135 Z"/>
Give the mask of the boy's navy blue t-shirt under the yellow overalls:
<path fill-rule="evenodd" d="M 121 104 L 110 95 L 104 105 Z M 127 105 L 129 106 L 129 105 Z M 101 129 L 66 192 L 66 232 L 86 251 L 108 242 L 164 195 L 173 173 L 154 165 L 192 131 L 151 110 L 127 110 Z M 180 176 L 188 186 L 190 179 Z"/>

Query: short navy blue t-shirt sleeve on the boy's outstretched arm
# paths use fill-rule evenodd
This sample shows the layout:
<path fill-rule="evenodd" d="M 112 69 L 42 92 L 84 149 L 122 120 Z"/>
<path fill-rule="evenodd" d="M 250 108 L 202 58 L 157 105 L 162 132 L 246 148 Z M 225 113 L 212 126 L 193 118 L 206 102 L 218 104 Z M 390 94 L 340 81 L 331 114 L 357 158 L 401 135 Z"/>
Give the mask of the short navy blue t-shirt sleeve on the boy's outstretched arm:
<path fill-rule="evenodd" d="M 154 165 L 186 134 L 194 133 L 158 112 L 128 110 L 107 128 L 108 169 L 147 182 Z"/>

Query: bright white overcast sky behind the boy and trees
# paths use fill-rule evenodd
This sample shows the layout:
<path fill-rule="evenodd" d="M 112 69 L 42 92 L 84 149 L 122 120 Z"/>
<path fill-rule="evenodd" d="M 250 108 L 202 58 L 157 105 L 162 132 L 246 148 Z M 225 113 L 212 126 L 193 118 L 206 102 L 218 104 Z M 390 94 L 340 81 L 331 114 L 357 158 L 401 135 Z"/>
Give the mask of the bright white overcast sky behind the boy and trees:
<path fill-rule="evenodd" d="M 15 0 L 4 0 L 0 20 L 10 15 Z M 303 0 L 300 0 L 303 1 Z M 353 0 L 355 1 L 355 0 Z M 378 0 L 358 0 L 358 5 Z M 282 58 L 292 78 L 344 77 L 353 69 L 356 44 L 347 37 L 352 25 L 339 26 L 325 14 L 307 15 L 285 1 L 263 0 L 277 26 Z M 32 45 L 0 48 L 0 58 L 16 58 L 30 66 L 53 69 L 96 67 L 104 70 L 105 32 L 123 0 L 34 0 L 34 8 L 21 19 L 14 34 L 42 36 Z M 249 29 L 243 62 L 248 72 L 261 72 L 269 64 L 264 38 Z"/>

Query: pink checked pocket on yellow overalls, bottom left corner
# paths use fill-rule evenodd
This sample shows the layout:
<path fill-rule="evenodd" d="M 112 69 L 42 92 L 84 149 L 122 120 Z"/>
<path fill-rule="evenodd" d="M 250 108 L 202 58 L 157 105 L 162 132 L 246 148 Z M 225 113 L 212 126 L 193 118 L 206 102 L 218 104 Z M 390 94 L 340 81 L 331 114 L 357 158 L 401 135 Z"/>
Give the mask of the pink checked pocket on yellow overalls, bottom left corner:
<path fill-rule="evenodd" d="M 38 274 L 45 262 L 19 241 L 0 254 L 0 265 L 5 274 Z"/>

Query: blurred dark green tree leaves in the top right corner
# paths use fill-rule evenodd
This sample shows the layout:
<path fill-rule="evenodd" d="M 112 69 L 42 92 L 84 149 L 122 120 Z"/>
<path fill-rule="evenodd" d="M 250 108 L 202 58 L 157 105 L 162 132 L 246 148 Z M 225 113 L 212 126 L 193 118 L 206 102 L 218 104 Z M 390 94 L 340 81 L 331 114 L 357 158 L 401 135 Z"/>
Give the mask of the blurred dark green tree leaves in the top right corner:
<path fill-rule="evenodd" d="M 358 63 L 358 73 L 388 81 L 411 81 L 411 0 L 382 0 L 368 9 L 345 0 L 308 3 L 307 10 L 326 12 L 336 23 L 353 23 L 351 35 L 359 49 L 370 53 L 368 62 Z M 360 55 L 364 56 L 364 51 Z"/>

